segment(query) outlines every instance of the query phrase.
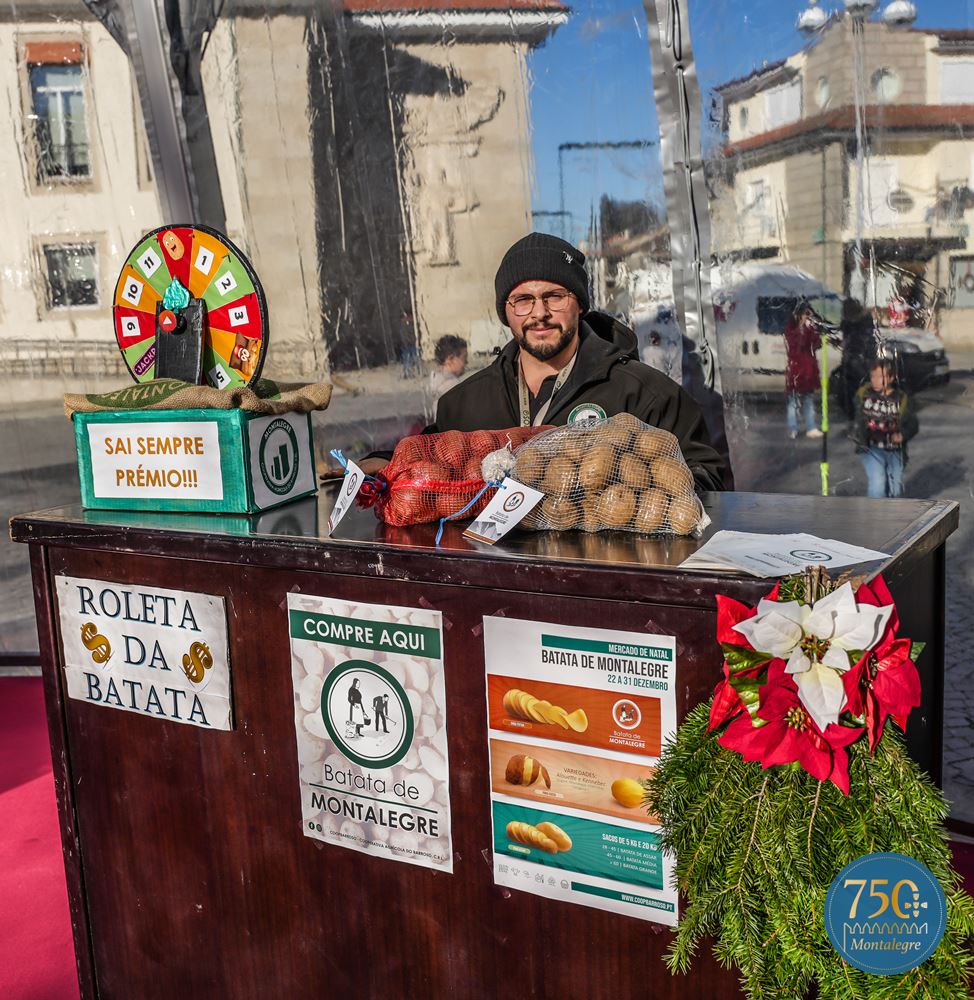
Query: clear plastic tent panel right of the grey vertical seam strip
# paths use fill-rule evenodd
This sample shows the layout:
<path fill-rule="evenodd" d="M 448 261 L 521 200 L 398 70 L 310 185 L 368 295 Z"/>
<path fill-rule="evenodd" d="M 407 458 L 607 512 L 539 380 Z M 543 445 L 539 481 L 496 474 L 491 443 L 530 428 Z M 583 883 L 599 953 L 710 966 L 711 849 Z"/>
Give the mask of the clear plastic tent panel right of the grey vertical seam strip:
<path fill-rule="evenodd" d="M 906 6 L 689 11 L 737 488 L 865 496 L 901 483 L 906 497 L 960 502 L 944 781 L 970 821 L 974 21 L 965 5 L 926 0 L 903 23 Z M 902 470 L 893 435 L 908 436 L 909 419 L 886 426 L 865 396 L 857 405 L 877 360 L 919 419 Z"/>

